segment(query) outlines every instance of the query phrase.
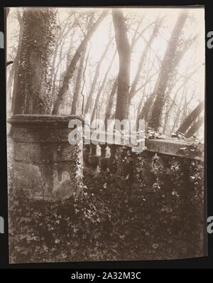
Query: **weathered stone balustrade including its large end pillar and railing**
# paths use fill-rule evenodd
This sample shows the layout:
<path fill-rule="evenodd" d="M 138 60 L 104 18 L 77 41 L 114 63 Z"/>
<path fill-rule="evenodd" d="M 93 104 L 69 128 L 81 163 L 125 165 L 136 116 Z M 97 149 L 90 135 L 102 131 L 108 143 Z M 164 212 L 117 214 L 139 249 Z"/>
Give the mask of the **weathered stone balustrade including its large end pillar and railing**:
<path fill-rule="evenodd" d="M 141 153 L 122 144 L 88 144 L 87 141 L 83 147 L 72 145 L 68 142 L 72 131 L 68 128 L 70 119 L 82 118 L 18 114 L 9 119 L 14 148 L 13 193 L 47 201 L 70 198 L 80 191 L 83 168 L 117 171 L 133 179 L 137 166 L 141 166 L 137 165 L 138 156 L 146 160 L 144 178 L 151 178 L 155 156 L 162 166 L 168 166 L 168 158 L 203 161 L 203 144 L 174 138 L 146 139 Z M 126 156 L 129 156 L 127 165 Z"/>

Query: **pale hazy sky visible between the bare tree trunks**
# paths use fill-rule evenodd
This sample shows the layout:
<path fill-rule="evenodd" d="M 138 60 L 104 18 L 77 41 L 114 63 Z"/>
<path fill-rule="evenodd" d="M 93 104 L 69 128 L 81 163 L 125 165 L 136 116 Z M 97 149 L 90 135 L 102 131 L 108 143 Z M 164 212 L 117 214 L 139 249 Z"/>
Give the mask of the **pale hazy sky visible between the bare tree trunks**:
<path fill-rule="evenodd" d="M 143 49 L 145 48 L 148 39 L 153 33 L 154 23 L 157 19 L 162 19 L 162 23 L 158 30 L 157 36 L 155 36 L 153 42 L 151 43 L 151 46 L 148 50 L 148 54 L 143 62 L 143 68 L 141 70 L 141 75 L 138 80 L 136 89 L 140 89 L 141 86 L 142 88 L 136 93 L 135 97 L 131 101 L 131 105 L 129 108 L 129 114 L 131 118 L 135 117 L 138 104 L 141 101 L 141 95 L 143 94 L 144 101 L 146 101 L 146 98 L 151 95 L 151 92 L 155 87 L 155 82 L 158 78 L 160 63 L 163 60 L 163 56 L 165 55 L 165 50 L 167 48 L 171 32 L 173 31 L 175 21 L 183 10 L 187 11 L 188 17 L 185 26 L 182 30 L 181 40 L 184 42 L 189 38 L 193 38 L 193 36 L 195 35 L 197 35 L 197 40 L 195 41 L 195 43 L 192 43 L 192 46 L 190 46 L 190 48 L 187 50 L 182 60 L 180 61 L 180 64 L 178 65 L 176 82 L 168 97 L 168 103 L 173 103 L 173 97 L 175 97 L 175 102 L 173 105 L 174 109 L 171 111 L 176 114 L 178 112 L 180 112 L 180 114 L 182 113 L 182 110 L 179 109 L 181 107 L 181 100 L 183 99 L 183 89 L 181 86 L 184 83 L 186 77 L 189 77 L 187 80 L 187 84 L 185 84 L 184 88 L 184 92 L 186 92 L 184 99 L 185 103 L 187 104 L 186 114 L 192 111 L 200 102 L 200 100 L 204 100 L 204 9 L 157 9 L 143 7 L 137 9 L 121 9 L 121 11 L 123 11 L 124 13 L 124 17 L 126 18 L 129 43 L 131 44 L 135 33 L 135 36 L 137 38 L 136 44 L 133 46 L 133 50 L 131 52 L 130 87 L 136 75 L 138 62 L 141 58 L 141 53 L 143 53 Z M 67 68 L 67 60 L 69 60 L 69 58 L 70 60 L 72 59 L 72 56 L 75 54 L 75 50 L 77 50 L 77 47 L 80 45 L 80 42 L 82 41 L 82 38 L 84 38 L 84 35 L 87 31 L 87 26 L 85 26 L 85 17 L 88 16 L 89 12 L 94 12 L 95 21 L 102 13 L 103 9 L 58 8 L 57 11 L 58 31 L 56 34 L 63 32 L 61 42 L 59 43 L 58 52 L 55 58 L 55 68 L 57 70 L 55 76 L 55 84 L 56 86 L 59 86 L 60 80 L 62 80 L 62 75 Z M 141 20 L 141 18 L 143 18 L 141 25 L 139 26 L 138 31 L 136 32 L 138 22 Z M 76 21 L 75 29 L 70 28 L 74 21 Z M 70 43 L 70 41 L 72 42 Z M 109 67 L 109 63 L 111 62 L 111 58 L 113 57 L 114 50 L 116 48 L 111 9 L 109 9 L 109 14 L 98 26 L 92 38 L 89 40 L 89 44 L 87 45 L 85 58 L 88 58 L 88 60 L 87 68 L 84 72 L 85 83 L 84 88 L 82 90 L 85 97 L 85 102 L 87 100 L 87 95 L 89 94 L 89 90 L 92 85 L 92 80 L 94 78 L 97 63 L 102 57 L 104 49 L 106 48 L 109 41 L 111 41 L 111 45 L 109 47 L 109 50 L 107 51 L 107 55 L 102 61 L 102 66 L 100 68 L 99 78 L 95 89 L 96 93 L 98 92 L 98 88 L 100 87 L 100 85 L 102 85 L 104 75 L 107 71 L 107 68 Z M 7 46 L 7 60 L 13 60 L 14 56 L 16 55 L 16 49 L 18 46 L 18 20 L 16 16 L 16 8 L 10 9 L 8 17 Z M 72 47 L 71 49 L 70 46 Z M 9 68 L 8 72 L 10 70 Z M 108 95 L 101 95 L 99 101 L 99 103 L 102 104 L 100 106 L 101 116 L 104 116 L 104 105 L 107 104 L 107 100 L 111 92 L 113 82 L 117 77 L 118 70 L 119 57 L 118 54 L 116 54 L 114 62 L 112 63 L 111 69 L 109 71 L 107 82 L 103 90 L 103 93 L 106 92 L 108 93 Z M 148 77 L 151 79 L 148 81 L 148 84 L 146 84 L 144 88 L 143 84 L 144 82 L 146 82 L 147 74 Z M 75 79 L 76 74 L 74 75 L 73 80 L 70 81 L 70 86 L 68 90 L 68 92 L 71 94 L 70 100 L 72 100 L 72 93 L 75 89 Z M 177 91 L 178 95 L 176 93 Z M 93 100 L 95 100 L 95 96 Z"/>

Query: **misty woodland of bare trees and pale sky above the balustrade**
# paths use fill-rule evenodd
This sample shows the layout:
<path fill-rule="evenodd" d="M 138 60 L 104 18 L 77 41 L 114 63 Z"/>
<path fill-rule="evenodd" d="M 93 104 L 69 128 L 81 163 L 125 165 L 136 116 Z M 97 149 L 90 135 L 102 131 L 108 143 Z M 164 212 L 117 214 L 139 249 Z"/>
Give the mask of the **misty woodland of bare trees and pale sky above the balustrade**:
<path fill-rule="evenodd" d="M 145 119 L 163 134 L 193 126 L 187 137 L 203 136 L 204 9 L 7 14 L 9 115 Z"/>

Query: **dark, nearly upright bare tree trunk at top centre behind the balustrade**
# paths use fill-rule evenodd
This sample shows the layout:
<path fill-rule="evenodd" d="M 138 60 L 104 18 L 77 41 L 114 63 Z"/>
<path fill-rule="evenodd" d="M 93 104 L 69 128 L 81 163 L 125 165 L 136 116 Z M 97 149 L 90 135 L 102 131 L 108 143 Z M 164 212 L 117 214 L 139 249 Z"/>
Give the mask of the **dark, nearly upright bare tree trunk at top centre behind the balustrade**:
<path fill-rule="evenodd" d="M 119 120 L 128 119 L 129 110 L 129 76 L 131 47 L 127 38 L 124 15 L 121 11 L 112 11 L 116 46 L 119 53 L 119 86 L 116 102 L 115 118 Z"/>

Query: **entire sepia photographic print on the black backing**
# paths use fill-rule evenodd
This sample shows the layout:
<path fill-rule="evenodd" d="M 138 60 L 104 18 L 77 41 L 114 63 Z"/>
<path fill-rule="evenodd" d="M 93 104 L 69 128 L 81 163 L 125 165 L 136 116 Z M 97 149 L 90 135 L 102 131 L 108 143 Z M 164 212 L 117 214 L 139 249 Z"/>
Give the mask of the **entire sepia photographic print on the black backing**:
<path fill-rule="evenodd" d="M 5 14 L 10 263 L 206 256 L 204 7 Z"/>

